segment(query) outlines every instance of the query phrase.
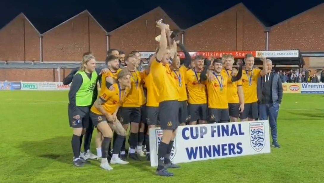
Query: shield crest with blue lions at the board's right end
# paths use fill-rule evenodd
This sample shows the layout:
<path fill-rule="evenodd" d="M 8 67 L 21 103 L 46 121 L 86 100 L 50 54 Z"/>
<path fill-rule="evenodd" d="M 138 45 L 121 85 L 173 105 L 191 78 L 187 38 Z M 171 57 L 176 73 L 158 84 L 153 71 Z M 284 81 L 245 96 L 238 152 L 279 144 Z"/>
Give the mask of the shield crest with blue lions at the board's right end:
<path fill-rule="evenodd" d="M 265 145 L 264 122 L 249 123 L 251 147 L 260 152 Z"/>

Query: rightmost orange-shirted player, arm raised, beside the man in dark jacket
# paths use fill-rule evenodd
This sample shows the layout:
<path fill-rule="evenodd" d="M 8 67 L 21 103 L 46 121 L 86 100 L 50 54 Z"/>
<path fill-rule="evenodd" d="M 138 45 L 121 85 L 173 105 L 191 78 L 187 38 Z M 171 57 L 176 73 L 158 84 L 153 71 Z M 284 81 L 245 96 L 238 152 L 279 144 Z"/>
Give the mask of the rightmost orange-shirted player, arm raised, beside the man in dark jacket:
<path fill-rule="evenodd" d="M 265 58 L 260 58 L 263 62 L 262 70 L 253 68 L 254 57 L 252 54 L 246 54 L 245 69 L 242 73 L 242 85 L 244 91 L 244 110 L 240 114 L 241 121 L 254 121 L 259 117 L 258 114 L 258 93 L 257 85 L 260 76 L 265 76 L 268 73 L 268 66 Z"/>

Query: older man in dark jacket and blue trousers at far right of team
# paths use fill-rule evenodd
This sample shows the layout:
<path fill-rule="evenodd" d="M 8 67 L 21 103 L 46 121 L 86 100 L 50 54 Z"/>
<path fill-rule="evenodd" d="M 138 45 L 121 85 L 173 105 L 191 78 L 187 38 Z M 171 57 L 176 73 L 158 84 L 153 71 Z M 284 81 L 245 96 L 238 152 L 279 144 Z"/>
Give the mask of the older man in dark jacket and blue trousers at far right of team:
<path fill-rule="evenodd" d="M 283 86 L 280 75 L 272 72 L 272 61 L 267 59 L 268 74 L 259 79 L 259 119 L 269 118 L 272 146 L 280 148 L 277 136 L 277 119 L 281 100 L 283 98 Z"/>

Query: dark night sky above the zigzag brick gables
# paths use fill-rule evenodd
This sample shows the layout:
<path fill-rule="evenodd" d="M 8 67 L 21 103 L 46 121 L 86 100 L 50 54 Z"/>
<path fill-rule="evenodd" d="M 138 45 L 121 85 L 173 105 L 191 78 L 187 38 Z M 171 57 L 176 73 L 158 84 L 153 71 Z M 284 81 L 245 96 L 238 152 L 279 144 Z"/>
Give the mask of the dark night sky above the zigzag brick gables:
<path fill-rule="evenodd" d="M 270 27 L 324 0 L 5 0 L 0 11 L 0 29 L 22 12 L 43 33 L 87 9 L 107 31 L 111 31 L 157 6 L 181 29 L 186 29 L 241 2 Z"/>

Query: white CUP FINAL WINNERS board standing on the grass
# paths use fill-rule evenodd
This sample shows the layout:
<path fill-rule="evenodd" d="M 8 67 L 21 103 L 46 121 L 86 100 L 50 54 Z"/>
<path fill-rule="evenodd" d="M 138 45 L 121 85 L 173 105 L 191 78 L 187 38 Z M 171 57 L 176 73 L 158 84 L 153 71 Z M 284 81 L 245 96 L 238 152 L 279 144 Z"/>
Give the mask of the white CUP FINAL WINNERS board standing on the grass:
<path fill-rule="evenodd" d="M 151 166 L 157 166 L 160 128 L 150 129 Z M 179 126 L 173 143 L 173 163 L 270 153 L 269 122 L 245 121 Z"/>

